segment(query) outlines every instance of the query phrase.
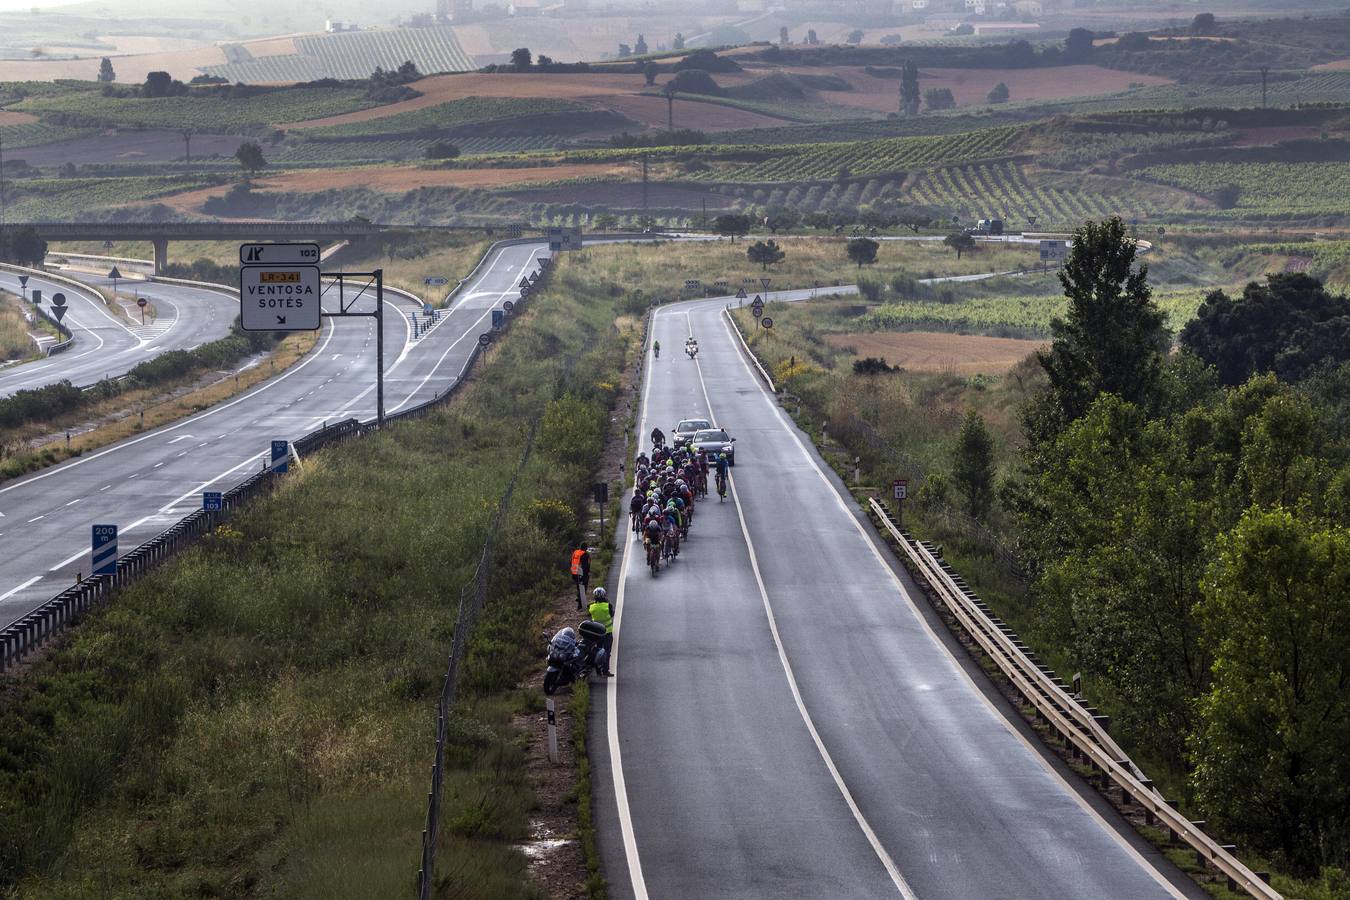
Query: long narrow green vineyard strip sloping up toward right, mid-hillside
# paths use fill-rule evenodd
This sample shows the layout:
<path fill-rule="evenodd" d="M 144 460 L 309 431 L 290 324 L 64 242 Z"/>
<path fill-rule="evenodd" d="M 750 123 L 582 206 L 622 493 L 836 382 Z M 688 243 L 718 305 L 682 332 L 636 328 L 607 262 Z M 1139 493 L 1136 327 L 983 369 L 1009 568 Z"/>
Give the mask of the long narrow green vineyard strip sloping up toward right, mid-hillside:
<path fill-rule="evenodd" d="M 838 177 L 903 171 L 1007 154 L 1021 128 L 986 128 L 959 135 L 890 138 L 861 143 L 775 147 L 774 158 L 707 173 L 718 181 L 829 181 Z M 842 173 L 848 173 L 842 175 Z"/>

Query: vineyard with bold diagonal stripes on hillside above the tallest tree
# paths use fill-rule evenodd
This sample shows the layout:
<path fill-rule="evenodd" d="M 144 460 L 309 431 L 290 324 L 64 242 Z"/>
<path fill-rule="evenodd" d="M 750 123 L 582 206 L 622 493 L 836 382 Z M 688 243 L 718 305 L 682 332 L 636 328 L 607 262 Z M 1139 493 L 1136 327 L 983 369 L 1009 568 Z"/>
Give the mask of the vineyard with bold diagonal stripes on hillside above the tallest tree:
<path fill-rule="evenodd" d="M 1145 219 L 1172 208 L 1158 192 L 1141 189 L 1108 194 L 1098 190 L 1062 190 L 1034 184 L 1021 166 L 987 163 L 948 166 L 922 173 L 905 196 L 919 204 L 954 209 L 963 219 L 1002 216 L 1023 221 L 1037 216 L 1037 227 L 1076 225 L 1084 219 L 1120 216 Z"/>

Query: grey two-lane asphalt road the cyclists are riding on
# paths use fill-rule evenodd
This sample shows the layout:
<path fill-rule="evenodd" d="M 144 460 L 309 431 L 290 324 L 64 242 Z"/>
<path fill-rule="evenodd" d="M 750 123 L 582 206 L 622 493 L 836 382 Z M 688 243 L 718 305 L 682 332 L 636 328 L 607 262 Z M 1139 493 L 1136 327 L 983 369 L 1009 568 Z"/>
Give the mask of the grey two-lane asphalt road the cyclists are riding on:
<path fill-rule="evenodd" d="M 617 676 L 591 739 L 612 896 L 1197 896 L 972 677 L 724 302 L 653 322 L 670 349 L 648 359 L 644 445 L 709 416 L 737 467 L 670 568 L 653 578 L 629 538 L 612 584 Z"/>

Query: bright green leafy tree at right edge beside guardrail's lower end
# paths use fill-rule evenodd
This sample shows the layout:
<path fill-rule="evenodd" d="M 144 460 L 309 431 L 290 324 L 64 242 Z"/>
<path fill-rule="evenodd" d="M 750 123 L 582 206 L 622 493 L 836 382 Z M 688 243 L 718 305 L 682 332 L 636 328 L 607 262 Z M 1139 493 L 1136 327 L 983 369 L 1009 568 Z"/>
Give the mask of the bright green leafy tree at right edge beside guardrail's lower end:
<path fill-rule="evenodd" d="M 1253 510 L 1219 544 L 1202 614 L 1214 687 L 1192 784 L 1226 834 L 1300 874 L 1350 834 L 1350 530 Z"/>

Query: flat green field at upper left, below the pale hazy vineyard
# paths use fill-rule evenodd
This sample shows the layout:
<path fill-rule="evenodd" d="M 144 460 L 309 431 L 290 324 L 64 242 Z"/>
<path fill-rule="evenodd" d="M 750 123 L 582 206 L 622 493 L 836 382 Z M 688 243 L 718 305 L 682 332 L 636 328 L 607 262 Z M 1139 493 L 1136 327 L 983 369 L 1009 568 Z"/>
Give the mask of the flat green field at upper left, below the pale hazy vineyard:
<path fill-rule="evenodd" d="M 369 73 L 367 73 L 369 74 Z M 362 88 L 290 88 L 250 97 L 104 97 L 97 90 L 30 97 L 11 107 L 76 127 L 197 128 L 252 134 L 286 121 L 378 105 Z"/>

